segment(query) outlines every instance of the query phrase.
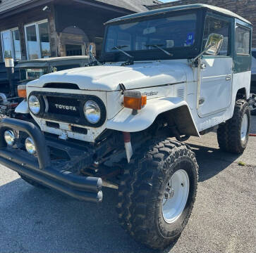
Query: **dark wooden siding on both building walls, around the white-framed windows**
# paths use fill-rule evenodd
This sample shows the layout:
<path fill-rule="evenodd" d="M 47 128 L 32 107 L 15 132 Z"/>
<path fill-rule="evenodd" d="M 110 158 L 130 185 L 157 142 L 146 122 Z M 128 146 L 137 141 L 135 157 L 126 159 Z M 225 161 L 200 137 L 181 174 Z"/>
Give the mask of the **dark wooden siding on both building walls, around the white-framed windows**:
<path fill-rule="evenodd" d="M 61 1 L 59 1 L 59 3 L 61 3 Z M 63 4 L 47 4 L 50 9 L 49 12 L 42 11 L 44 6 L 45 4 L 8 18 L 1 19 L 0 16 L 0 32 L 14 27 L 19 28 L 21 56 L 23 60 L 27 58 L 24 25 L 39 20 L 48 20 L 52 57 L 66 56 L 65 44 L 82 45 L 85 43 L 86 45 L 96 44 L 97 56 L 99 56 L 102 48 L 102 38 L 104 37 L 104 22 L 111 18 L 124 15 L 123 13 L 118 13 L 118 11 L 111 11 L 84 4 L 72 4 L 70 2 L 63 2 Z M 128 13 L 131 12 L 128 11 Z M 80 34 L 63 33 L 63 30 L 67 27 L 78 27 L 83 31 L 83 36 Z M 3 60 L 1 50 L 0 61 Z"/>

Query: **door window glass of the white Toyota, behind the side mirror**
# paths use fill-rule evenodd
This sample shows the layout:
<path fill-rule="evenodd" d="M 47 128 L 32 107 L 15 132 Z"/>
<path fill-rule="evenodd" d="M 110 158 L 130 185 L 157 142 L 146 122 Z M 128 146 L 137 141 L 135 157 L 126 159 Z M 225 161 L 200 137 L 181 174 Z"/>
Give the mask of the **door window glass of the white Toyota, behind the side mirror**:
<path fill-rule="evenodd" d="M 219 56 L 230 56 L 229 50 L 229 37 L 230 37 L 230 23 L 226 20 L 222 20 L 220 18 L 215 18 L 210 15 L 206 16 L 205 19 L 205 30 L 203 37 L 203 48 L 205 48 L 205 44 L 209 37 L 209 34 L 221 34 L 224 36 L 224 41 L 221 46 L 221 50 L 219 51 Z"/>

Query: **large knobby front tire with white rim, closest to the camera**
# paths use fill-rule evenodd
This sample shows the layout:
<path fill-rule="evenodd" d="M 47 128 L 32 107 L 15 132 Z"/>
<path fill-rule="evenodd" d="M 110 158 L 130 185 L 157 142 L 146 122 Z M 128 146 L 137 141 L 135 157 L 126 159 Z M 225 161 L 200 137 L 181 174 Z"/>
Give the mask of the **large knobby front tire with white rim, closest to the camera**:
<path fill-rule="evenodd" d="M 188 222 L 197 193 L 198 166 L 193 151 L 178 141 L 154 140 L 145 147 L 123 174 L 118 220 L 138 242 L 163 249 Z"/>

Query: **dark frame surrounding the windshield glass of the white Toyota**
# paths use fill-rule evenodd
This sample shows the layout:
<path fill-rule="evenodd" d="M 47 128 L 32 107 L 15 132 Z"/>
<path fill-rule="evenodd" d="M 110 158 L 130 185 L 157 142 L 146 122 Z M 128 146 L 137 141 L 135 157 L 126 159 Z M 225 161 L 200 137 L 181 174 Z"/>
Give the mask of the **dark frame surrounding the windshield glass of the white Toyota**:
<path fill-rule="evenodd" d="M 176 48 L 163 48 L 164 50 L 168 51 L 169 53 L 173 54 L 173 56 L 168 56 L 166 53 L 159 52 L 159 48 L 154 49 L 144 49 L 144 50 L 137 50 L 137 51 L 126 51 L 126 53 L 129 53 L 131 56 L 134 57 L 134 60 L 142 61 L 142 60 L 172 60 L 172 59 L 188 59 L 188 58 L 194 58 L 195 56 L 200 53 L 202 48 L 202 32 L 204 28 L 204 13 L 205 11 L 201 9 L 193 9 L 193 10 L 185 10 L 185 11 L 173 11 L 169 13 L 161 13 L 160 15 L 150 15 L 140 18 L 133 18 L 130 20 L 123 20 L 111 23 L 106 26 L 105 30 L 105 36 L 104 41 L 102 45 L 102 56 L 101 61 L 102 62 L 121 62 L 124 60 L 127 60 L 127 56 L 125 56 L 123 53 L 115 51 L 115 52 L 106 52 L 106 35 L 109 31 L 109 27 L 111 25 L 123 25 L 130 22 L 140 22 L 145 20 L 153 20 L 157 18 L 168 18 L 173 17 L 176 15 L 189 15 L 193 14 L 197 15 L 197 22 L 196 22 L 196 34 L 195 34 L 195 43 L 193 46 L 182 46 L 182 47 L 176 47 Z"/>

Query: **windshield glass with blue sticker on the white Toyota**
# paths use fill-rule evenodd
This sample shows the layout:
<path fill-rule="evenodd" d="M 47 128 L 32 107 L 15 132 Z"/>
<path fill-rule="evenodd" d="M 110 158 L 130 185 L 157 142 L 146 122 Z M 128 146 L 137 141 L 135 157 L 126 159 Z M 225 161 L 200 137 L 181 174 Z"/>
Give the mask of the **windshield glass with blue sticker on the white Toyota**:
<path fill-rule="evenodd" d="M 195 44 L 196 23 L 197 15 L 187 13 L 111 25 L 107 30 L 104 51 L 116 52 L 118 47 L 123 51 L 135 52 L 154 50 L 160 55 L 160 48 L 170 52 L 176 48 L 189 48 Z"/>

